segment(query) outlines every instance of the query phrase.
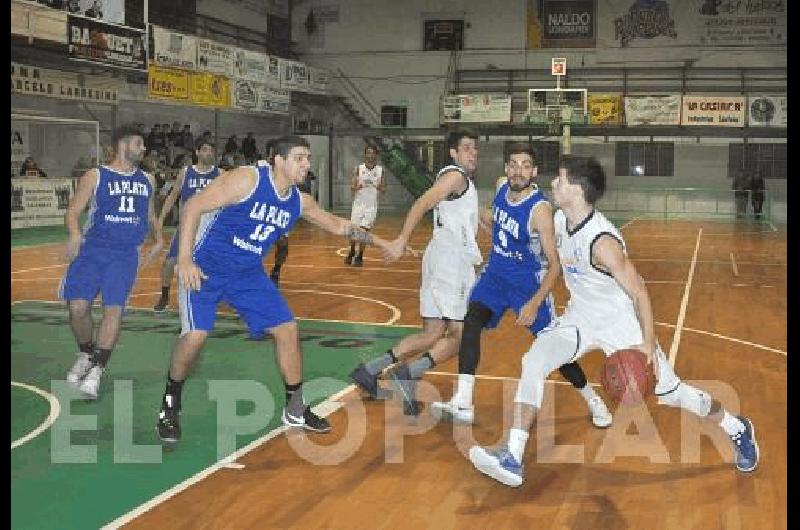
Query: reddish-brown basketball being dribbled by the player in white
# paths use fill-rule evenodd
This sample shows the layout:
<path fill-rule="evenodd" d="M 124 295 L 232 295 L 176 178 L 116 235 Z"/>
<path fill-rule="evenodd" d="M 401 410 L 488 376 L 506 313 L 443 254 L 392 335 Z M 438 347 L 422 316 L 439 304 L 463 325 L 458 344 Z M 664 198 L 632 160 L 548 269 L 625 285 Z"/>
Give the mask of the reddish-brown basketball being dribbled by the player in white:
<path fill-rule="evenodd" d="M 639 350 L 619 350 L 608 357 L 600 373 L 606 394 L 623 405 L 638 405 L 655 388 L 652 366 Z"/>

